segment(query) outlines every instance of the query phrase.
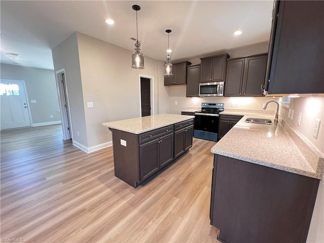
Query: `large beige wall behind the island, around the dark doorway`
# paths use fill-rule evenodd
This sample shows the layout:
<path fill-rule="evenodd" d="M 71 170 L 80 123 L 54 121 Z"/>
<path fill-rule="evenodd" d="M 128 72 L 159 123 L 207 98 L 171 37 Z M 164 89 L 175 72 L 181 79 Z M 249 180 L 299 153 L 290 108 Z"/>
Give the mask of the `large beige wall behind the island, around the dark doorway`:
<path fill-rule="evenodd" d="M 154 113 L 158 113 L 157 90 L 165 90 L 160 86 L 158 61 L 145 57 L 144 69 L 132 69 L 131 51 L 82 33 L 77 33 L 77 43 L 88 147 L 112 140 L 111 132 L 102 123 L 141 115 L 140 75 L 153 77 Z M 89 101 L 93 108 L 87 108 Z"/>

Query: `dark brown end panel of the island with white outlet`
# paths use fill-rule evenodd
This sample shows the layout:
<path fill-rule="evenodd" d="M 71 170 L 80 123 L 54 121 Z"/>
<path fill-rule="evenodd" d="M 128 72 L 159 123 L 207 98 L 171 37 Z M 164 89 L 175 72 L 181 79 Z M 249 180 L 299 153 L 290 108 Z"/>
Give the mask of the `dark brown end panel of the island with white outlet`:
<path fill-rule="evenodd" d="M 115 176 L 133 187 L 140 183 L 138 145 L 137 134 L 112 129 Z"/>

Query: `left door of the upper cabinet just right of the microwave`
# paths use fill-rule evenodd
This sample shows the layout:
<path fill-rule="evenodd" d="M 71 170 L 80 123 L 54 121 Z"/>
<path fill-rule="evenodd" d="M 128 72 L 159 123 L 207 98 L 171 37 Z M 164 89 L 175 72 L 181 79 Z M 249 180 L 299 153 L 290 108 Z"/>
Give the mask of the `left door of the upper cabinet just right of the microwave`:
<path fill-rule="evenodd" d="M 227 61 L 225 96 L 241 96 L 244 64 L 244 58 Z"/>

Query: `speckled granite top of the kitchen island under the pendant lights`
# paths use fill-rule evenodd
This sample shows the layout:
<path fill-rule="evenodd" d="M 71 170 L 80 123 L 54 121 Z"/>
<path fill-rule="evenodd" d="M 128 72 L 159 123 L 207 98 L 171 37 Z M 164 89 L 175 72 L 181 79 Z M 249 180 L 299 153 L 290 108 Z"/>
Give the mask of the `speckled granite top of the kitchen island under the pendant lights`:
<path fill-rule="evenodd" d="M 157 128 L 162 128 L 181 121 L 194 118 L 192 115 L 158 114 L 137 117 L 126 120 L 111 121 L 102 125 L 111 129 L 140 134 Z"/>

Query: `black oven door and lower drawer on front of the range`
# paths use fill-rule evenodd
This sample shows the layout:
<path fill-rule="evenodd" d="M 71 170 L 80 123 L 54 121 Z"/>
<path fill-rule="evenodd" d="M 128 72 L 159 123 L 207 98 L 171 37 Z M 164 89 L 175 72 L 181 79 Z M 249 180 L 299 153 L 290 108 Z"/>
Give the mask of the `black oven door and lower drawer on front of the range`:
<path fill-rule="evenodd" d="M 219 114 L 195 112 L 193 137 L 217 141 Z"/>

